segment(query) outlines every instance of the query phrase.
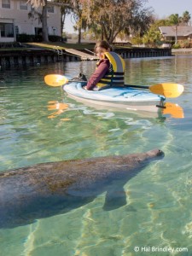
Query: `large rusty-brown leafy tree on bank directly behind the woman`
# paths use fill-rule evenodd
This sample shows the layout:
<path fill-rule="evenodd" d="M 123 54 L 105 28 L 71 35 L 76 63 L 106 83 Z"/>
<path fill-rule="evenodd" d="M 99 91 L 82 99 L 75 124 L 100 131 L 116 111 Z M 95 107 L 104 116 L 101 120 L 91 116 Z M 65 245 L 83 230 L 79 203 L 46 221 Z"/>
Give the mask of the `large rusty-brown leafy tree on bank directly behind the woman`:
<path fill-rule="evenodd" d="M 143 9 L 143 0 L 81 0 L 87 24 L 101 26 L 104 38 L 113 43 L 119 32 L 146 30 L 151 21 L 149 9 Z"/>

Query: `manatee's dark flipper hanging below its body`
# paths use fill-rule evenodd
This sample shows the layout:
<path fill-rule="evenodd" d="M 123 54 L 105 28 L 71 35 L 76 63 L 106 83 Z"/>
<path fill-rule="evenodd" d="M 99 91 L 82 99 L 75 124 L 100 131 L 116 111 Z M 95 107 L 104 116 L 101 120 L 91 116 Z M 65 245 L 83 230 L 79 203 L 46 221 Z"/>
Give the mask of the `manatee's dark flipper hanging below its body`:
<path fill-rule="evenodd" d="M 104 211 L 112 211 L 114 209 L 123 207 L 125 205 L 126 205 L 126 194 L 123 188 L 120 190 L 118 189 L 113 191 L 108 190 L 105 196 L 105 203 L 102 209 Z"/>

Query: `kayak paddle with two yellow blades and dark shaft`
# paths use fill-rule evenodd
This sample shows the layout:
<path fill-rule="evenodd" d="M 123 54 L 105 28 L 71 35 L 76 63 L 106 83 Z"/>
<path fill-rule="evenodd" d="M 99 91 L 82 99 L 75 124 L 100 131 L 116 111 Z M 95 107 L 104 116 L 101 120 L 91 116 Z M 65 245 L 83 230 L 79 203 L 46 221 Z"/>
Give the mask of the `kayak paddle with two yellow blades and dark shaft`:
<path fill-rule="evenodd" d="M 68 82 L 82 83 L 84 81 L 73 81 L 73 80 L 68 80 L 67 77 L 62 75 L 49 74 L 44 77 L 44 82 L 50 86 L 61 86 L 61 85 L 67 84 Z M 169 98 L 175 98 L 177 96 L 180 96 L 184 90 L 182 84 L 174 84 L 174 83 L 153 84 L 150 86 L 125 84 L 125 87 L 148 89 L 154 94 L 162 95 Z"/>

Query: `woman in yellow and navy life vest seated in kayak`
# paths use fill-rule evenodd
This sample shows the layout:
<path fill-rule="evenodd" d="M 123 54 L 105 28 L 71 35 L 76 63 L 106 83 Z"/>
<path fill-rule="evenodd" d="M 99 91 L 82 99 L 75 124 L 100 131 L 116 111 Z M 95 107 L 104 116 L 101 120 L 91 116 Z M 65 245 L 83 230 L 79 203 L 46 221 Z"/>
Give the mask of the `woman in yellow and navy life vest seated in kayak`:
<path fill-rule="evenodd" d="M 91 75 L 85 90 L 102 90 L 109 87 L 124 86 L 125 61 L 115 52 L 106 41 L 99 41 L 95 47 L 99 61 L 96 71 Z"/>

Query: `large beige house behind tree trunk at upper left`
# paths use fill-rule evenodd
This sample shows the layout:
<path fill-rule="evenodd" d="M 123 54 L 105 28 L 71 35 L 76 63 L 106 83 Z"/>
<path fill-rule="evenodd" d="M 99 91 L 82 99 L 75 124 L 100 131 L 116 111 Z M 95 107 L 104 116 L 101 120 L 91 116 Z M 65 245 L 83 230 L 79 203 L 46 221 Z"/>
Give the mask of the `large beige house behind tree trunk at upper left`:
<path fill-rule="evenodd" d="M 26 0 L 0 0 L 0 42 L 15 42 L 21 33 L 38 35 L 42 23 L 38 16 L 29 18 L 32 6 Z M 41 8 L 37 10 L 41 13 Z M 48 33 L 61 36 L 61 7 L 56 3 L 48 4 Z"/>

